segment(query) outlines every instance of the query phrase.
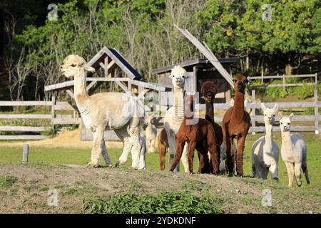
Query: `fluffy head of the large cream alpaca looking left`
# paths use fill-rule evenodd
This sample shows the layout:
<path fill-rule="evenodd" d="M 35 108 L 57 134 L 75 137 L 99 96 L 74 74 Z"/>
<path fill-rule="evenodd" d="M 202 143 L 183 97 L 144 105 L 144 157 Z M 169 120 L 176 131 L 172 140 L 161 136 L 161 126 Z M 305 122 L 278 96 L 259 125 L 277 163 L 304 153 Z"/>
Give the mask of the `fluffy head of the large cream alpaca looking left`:
<path fill-rule="evenodd" d="M 63 60 L 63 65 L 60 66 L 61 73 L 67 78 L 78 76 L 83 71 L 95 72 L 95 69 L 88 66 L 86 61 L 77 55 L 69 55 Z"/>

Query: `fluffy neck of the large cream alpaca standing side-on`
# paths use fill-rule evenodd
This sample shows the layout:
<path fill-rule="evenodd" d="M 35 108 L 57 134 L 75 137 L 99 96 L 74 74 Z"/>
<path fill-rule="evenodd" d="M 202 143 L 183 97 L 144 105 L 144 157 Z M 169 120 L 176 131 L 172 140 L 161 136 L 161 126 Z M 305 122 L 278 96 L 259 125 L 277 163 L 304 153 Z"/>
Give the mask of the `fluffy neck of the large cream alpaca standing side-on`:
<path fill-rule="evenodd" d="M 77 105 L 89 98 L 86 90 L 86 72 L 82 68 L 79 69 L 79 72 L 74 76 L 73 93 Z"/>

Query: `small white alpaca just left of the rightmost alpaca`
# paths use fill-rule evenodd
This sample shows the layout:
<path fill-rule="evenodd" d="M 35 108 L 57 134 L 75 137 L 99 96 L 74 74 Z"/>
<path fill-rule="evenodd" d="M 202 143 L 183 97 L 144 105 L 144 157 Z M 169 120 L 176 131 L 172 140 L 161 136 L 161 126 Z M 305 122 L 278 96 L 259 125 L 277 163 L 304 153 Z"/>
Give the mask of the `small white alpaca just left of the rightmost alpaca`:
<path fill-rule="evenodd" d="M 275 121 L 275 113 L 277 104 L 274 108 L 265 108 L 264 103 L 261 104 L 265 123 L 265 136 L 262 136 L 253 143 L 252 147 L 252 171 L 253 177 L 266 179 L 269 170 L 272 174 L 272 179 L 277 180 L 278 170 L 277 163 L 279 162 L 279 147 L 272 140 L 272 126 Z"/>

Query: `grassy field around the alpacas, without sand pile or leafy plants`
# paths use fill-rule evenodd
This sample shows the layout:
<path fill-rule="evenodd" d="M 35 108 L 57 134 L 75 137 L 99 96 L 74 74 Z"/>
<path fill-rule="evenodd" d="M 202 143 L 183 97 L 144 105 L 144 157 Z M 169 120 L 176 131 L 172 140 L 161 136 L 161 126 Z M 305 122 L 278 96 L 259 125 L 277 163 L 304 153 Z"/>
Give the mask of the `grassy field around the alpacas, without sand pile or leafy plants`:
<path fill-rule="evenodd" d="M 107 204 L 105 201 L 101 201 L 100 197 L 106 195 L 106 190 L 104 187 L 107 185 L 108 181 L 105 180 L 101 182 L 101 177 L 111 178 L 111 180 L 117 180 L 118 184 L 116 186 L 108 186 L 107 189 L 111 194 L 111 192 L 126 192 L 128 190 L 134 190 L 138 196 L 136 196 L 137 200 L 149 200 L 151 199 L 143 199 L 139 198 L 139 195 L 146 195 L 146 193 L 156 194 L 156 192 L 164 192 L 170 190 L 174 195 L 175 192 L 188 190 L 191 194 L 195 193 L 206 193 L 206 191 L 210 192 L 210 194 L 215 193 L 215 197 L 218 197 L 218 203 L 220 204 L 220 208 L 218 211 L 222 212 L 245 212 L 245 213 L 260 213 L 260 212 L 289 212 L 289 213 L 307 213 L 307 212 L 317 212 L 320 213 L 320 205 L 321 205 L 321 176 L 320 176 L 320 165 L 321 165 L 321 140 L 320 135 L 314 135 L 312 133 L 304 133 L 302 134 L 305 137 L 305 141 L 307 142 L 307 167 L 309 170 L 311 185 L 307 185 L 303 178 L 302 187 L 297 187 L 294 183 L 294 187 L 289 190 L 287 188 L 287 171 L 285 168 L 284 162 L 280 159 L 279 163 L 279 182 L 275 182 L 274 180 L 258 180 L 256 178 L 250 177 L 251 175 L 251 146 L 253 142 L 258 139 L 261 134 L 258 135 L 248 135 L 248 140 L 245 145 L 245 155 L 244 155 L 244 170 L 245 177 L 227 177 L 227 176 L 219 176 L 214 177 L 213 175 L 187 175 L 181 172 L 180 174 L 173 174 L 172 172 L 160 172 L 159 170 L 159 160 L 158 153 L 147 154 L 146 162 L 148 170 L 145 171 L 133 171 L 131 170 L 131 157 L 128 157 L 128 162 L 126 165 L 123 165 L 121 168 L 106 168 L 101 167 L 98 169 L 91 169 L 85 167 L 87 162 L 90 160 L 91 149 L 88 148 L 71 148 L 71 147 L 63 147 L 63 145 L 59 147 L 30 147 L 29 148 L 29 165 L 21 165 L 22 160 L 22 148 L 17 146 L 8 146 L 10 143 L 6 143 L 6 146 L 1 146 L 0 142 L 0 198 L 1 196 L 8 197 L 8 195 L 34 195 L 34 197 L 41 198 L 41 195 L 44 195 L 46 192 L 42 192 L 41 190 L 49 189 L 49 185 L 53 185 L 54 187 L 58 187 L 62 185 L 61 190 L 63 191 L 63 195 L 66 197 L 76 197 L 79 198 L 78 204 L 74 204 L 71 207 L 60 208 L 60 209 L 49 209 L 46 205 L 41 204 L 36 205 L 30 208 L 30 205 L 20 208 L 24 212 L 86 212 L 83 209 L 83 205 L 88 205 L 88 202 L 95 202 L 97 205 L 98 202 L 101 204 Z M 277 136 L 277 137 L 276 137 Z M 277 141 L 278 145 L 280 145 L 280 133 L 275 133 L 274 139 Z M 13 144 L 14 145 L 14 144 Z M 56 145 L 57 146 L 57 145 Z M 108 143 L 107 143 L 108 147 Z M 118 157 L 121 155 L 121 149 L 111 148 L 108 149 L 109 154 L 111 155 L 111 160 L 114 164 Z M 100 164 L 103 165 L 102 158 L 99 160 Z M 76 166 L 75 166 L 76 165 Z M 78 166 L 77 166 L 78 165 Z M 166 164 L 167 165 L 167 164 Z M 197 170 L 198 167 L 198 159 L 195 157 L 194 170 Z M 167 170 L 168 167 L 166 167 Z M 76 169 L 76 170 L 75 170 Z M 79 170 L 78 170 L 79 169 Z M 42 177 L 30 176 L 29 173 L 54 173 L 54 177 L 50 181 L 47 180 L 48 174 L 46 174 L 46 178 L 44 182 L 41 181 Z M 62 171 L 61 171 L 62 170 Z M 24 173 L 26 172 L 26 173 Z M 86 172 L 86 178 L 78 179 L 77 175 L 74 173 Z M 5 174 L 4 174 L 5 173 Z M 21 174 L 22 173 L 22 174 Z M 126 178 L 123 179 L 119 177 L 126 173 Z M 73 177 L 72 180 L 69 178 Z M 94 177 L 92 177 L 94 176 Z M 17 178 L 12 181 L 10 178 L 9 183 L 14 182 L 11 187 L 4 186 L 1 187 L 1 178 L 6 183 L 6 178 L 11 177 Z M 116 177 L 116 178 L 115 178 Z M 119 178 L 117 178 L 119 177 Z M 22 178 L 22 182 L 21 182 Z M 99 178 L 97 182 L 94 180 Z M 107 178 L 107 177 L 106 177 Z M 107 179 L 108 179 L 107 178 Z M 174 179 L 173 179 L 174 178 Z M 29 180 L 30 179 L 30 180 Z M 69 180 L 69 181 L 68 181 Z M 49 181 L 49 182 L 48 182 Z M 78 182 L 84 181 L 86 184 L 79 185 Z M 165 184 L 162 183 L 165 181 Z M 66 182 L 65 184 L 62 184 Z M 147 183 L 148 182 L 148 183 Z M 160 182 L 160 183 L 159 183 Z M 154 184 L 155 185 L 154 185 Z M 156 184 L 157 183 L 157 184 Z M 179 183 L 179 184 L 178 184 Z M 16 187 L 14 187 L 16 186 Z M 35 187 L 36 186 L 36 187 Z M 85 186 L 85 187 L 84 187 Z M 148 187 L 148 191 L 146 191 L 146 186 Z M 105 186 L 106 187 L 106 186 Z M 269 188 L 272 190 L 273 195 L 275 196 L 274 204 L 277 204 L 275 207 L 260 207 L 260 199 L 262 197 L 261 191 L 264 188 Z M 87 190 L 84 190 L 87 189 Z M 221 192 L 220 192 L 221 191 Z M 235 196 L 236 192 L 248 192 L 242 195 L 242 197 Z M 255 194 L 250 194 L 251 191 L 254 191 Z M 1 195 L 2 192 L 2 195 Z M 6 192 L 6 193 L 4 193 Z M 25 192 L 25 193 L 24 193 Z M 66 193 L 67 192 L 67 193 Z M 226 195 L 227 192 L 232 192 L 232 195 Z M 170 193 L 170 194 L 172 194 Z M 161 193 L 163 194 L 163 193 Z M 238 194 L 238 193 L 236 193 Z M 198 194 L 196 194 L 197 196 Z M 88 199 L 89 201 L 83 202 L 85 198 L 91 198 L 93 196 L 98 197 L 99 199 Z M 21 199 L 26 200 L 27 202 L 32 199 Z M 108 198 L 108 197 L 107 197 Z M 126 197 L 124 197 L 126 198 Z M 129 197 L 130 199 L 133 197 Z M 155 198 L 152 197 L 153 199 Z M 193 198 L 193 197 L 192 197 Z M 190 198 L 190 200 L 192 200 Z M 67 200 L 67 199 L 66 199 Z M 184 201 L 185 199 L 182 198 Z M 193 199 L 195 200 L 195 199 Z M 238 202 L 234 202 L 237 200 Z M 0 201 L 1 202 L 1 201 Z M 17 202 L 19 204 L 21 202 Z M 1 203 L 0 203 L 1 204 Z M 233 205 L 234 206 L 233 206 Z M 301 204 L 300 207 L 293 207 L 295 204 Z M 32 204 L 31 204 L 32 205 Z M 237 207 L 237 205 L 241 205 L 243 209 Z M 203 207 L 203 206 L 202 206 Z M 16 207 L 11 208 L 10 206 L 3 207 L 9 212 L 16 212 Z M 17 206 L 17 208 L 19 208 Z M 98 209 L 94 209 L 93 207 L 89 207 L 88 212 L 106 212 L 99 211 Z M 99 207 L 103 208 L 103 207 Z M 216 207 L 215 207 L 216 209 Z M 1 211 L 1 209 L 0 209 Z M 211 210 L 208 209 L 210 212 Z M 2 211 L 3 212 L 3 211 Z M 136 212 L 133 210 L 133 212 Z"/>

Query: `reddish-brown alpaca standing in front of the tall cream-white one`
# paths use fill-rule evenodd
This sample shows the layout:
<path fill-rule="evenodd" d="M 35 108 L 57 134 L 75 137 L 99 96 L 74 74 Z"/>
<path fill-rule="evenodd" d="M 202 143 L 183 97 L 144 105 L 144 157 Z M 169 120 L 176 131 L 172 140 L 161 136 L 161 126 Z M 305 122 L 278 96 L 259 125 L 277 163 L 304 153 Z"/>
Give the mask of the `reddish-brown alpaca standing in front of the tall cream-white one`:
<path fill-rule="evenodd" d="M 193 96 L 188 96 L 190 102 L 185 102 L 185 115 L 183 123 L 180 125 L 176 139 L 175 160 L 170 171 L 178 165 L 183 153 L 185 142 L 188 142 L 188 167 L 193 173 L 194 150 L 198 150 L 200 166 L 198 172 L 205 172 L 205 162 L 208 162 L 208 151 L 213 165 L 213 173 L 218 174 L 218 151 L 216 150 L 216 140 L 213 125 L 205 119 L 193 119 Z M 193 110 L 193 108 L 192 108 Z"/>

